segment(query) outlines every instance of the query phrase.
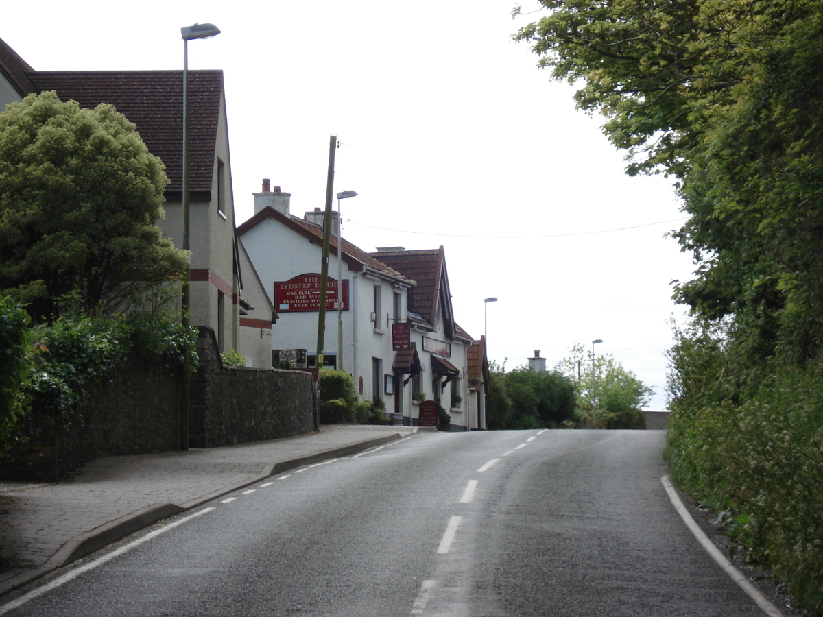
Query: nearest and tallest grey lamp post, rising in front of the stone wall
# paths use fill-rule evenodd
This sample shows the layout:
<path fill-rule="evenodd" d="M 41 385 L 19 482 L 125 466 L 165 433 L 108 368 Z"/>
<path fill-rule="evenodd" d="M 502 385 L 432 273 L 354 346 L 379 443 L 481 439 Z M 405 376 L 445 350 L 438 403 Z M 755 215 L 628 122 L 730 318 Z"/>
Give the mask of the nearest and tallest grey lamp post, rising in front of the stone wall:
<path fill-rule="evenodd" d="M 188 239 L 188 41 L 193 39 L 211 39 L 212 36 L 220 34 L 220 28 L 214 24 L 194 24 L 180 28 L 180 35 L 183 39 L 183 250 L 190 251 Z M 188 268 L 184 271 L 183 290 L 180 298 L 180 308 L 183 311 L 183 332 L 188 332 L 188 311 L 191 306 L 191 256 L 188 256 Z M 180 449 L 188 450 L 188 420 L 189 420 L 189 394 L 191 358 L 188 346 L 183 358 L 183 392 L 180 401 Z"/>

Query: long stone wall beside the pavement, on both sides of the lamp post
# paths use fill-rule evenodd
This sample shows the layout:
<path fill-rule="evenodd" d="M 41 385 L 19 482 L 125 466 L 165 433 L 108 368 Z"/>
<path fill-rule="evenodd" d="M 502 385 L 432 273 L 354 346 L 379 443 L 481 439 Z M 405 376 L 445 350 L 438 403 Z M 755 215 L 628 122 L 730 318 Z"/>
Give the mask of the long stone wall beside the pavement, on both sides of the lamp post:
<path fill-rule="evenodd" d="M 311 375 L 301 371 L 226 368 L 214 332 L 201 328 L 199 367 L 191 382 L 189 446 L 265 441 L 314 429 Z M 179 375 L 149 361 L 127 360 L 107 383 L 92 387 L 67 430 L 33 410 L 26 443 L 0 457 L 0 479 L 53 482 L 95 458 L 180 448 Z"/>

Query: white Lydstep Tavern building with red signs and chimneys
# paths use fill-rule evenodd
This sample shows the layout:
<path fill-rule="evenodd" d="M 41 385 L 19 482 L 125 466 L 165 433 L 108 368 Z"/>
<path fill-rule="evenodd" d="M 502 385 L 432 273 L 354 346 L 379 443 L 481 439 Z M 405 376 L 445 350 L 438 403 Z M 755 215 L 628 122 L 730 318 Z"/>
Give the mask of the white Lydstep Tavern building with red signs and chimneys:
<path fill-rule="evenodd" d="M 413 399 L 421 393 L 441 401 L 453 430 L 484 429 L 486 354 L 477 348 L 471 354 L 470 347 L 482 341 L 472 341 L 454 322 L 443 248 L 365 253 L 343 239 L 338 260 L 333 214 L 323 364 L 351 373 L 361 400 L 380 398 L 398 422 L 419 423 L 420 401 Z M 292 216 L 291 194 L 271 190 L 263 180 L 263 190 L 254 194 L 254 215 L 238 234 L 277 311 L 274 364 L 314 366 L 323 211 Z"/>

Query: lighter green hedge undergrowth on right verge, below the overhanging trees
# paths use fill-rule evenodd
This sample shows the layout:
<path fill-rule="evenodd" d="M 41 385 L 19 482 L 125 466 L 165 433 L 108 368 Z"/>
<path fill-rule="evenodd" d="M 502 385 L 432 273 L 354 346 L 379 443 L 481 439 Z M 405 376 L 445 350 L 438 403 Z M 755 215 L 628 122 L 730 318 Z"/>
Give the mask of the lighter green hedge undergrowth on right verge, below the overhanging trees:
<path fill-rule="evenodd" d="M 725 356 L 714 346 L 712 360 L 712 341 L 697 349 L 696 340 L 676 346 L 670 358 L 673 369 L 689 366 L 686 376 L 697 374 L 687 363 L 717 367 Z M 823 360 L 802 368 L 775 359 L 771 369 L 751 390 L 721 383 L 684 397 L 690 383 L 673 384 L 665 456 L 681 486 L 723 513 L 746 558 L 770 566 L 813 615 L 823 615 Z M 700 378 L 712 383 L 727 373 Z M 735 396 L 710 401 L 710 392 Z"/>

